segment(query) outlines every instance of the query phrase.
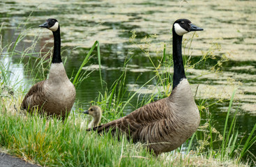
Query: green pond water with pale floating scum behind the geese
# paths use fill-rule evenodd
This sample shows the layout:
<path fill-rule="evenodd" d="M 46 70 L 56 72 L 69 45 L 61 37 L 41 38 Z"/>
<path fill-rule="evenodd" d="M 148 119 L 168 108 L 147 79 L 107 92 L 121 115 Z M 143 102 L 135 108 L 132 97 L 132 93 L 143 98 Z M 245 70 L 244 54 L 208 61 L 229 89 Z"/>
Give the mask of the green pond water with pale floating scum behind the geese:
<path fill-rule="evenodd" d="M 163 43 L 166 45 L 167 53 L 171 53 L 172 22 L 179 18 L 188 18 L 204 29 L 196 33 L 190 50 L 188 51 L 188 46 L 185 49 L 185 54 L 191 55 L 192 63 L 199 61 L 214 43 L 218 43 L 218 48 L 213 47 L 216 59 L 187 71 L 193 93 L 198 86 L 196 100 L 205 98 L 209 102 L 216 102 L 220 97 L 228 100 L 237 87 L 233 111 L 239 109 L 239 131 L 241 134 L 250 132 L 255 125 L 256 1 L 13 0 L 1 1 L 0 7 L 0 20 L 3 24 L 2 46 L 15 41 L 20 33 L 26 33 L 16 47 L 20 51 L 31 46 L 34 36 L 37 35 L 38 44 L 35 52 L 40 51 L 42 47 L 43 51 L 47 52 L 52 47 L 52 33 L 46 29 L 39 29 L 38 25 L 50 17 L 59 20 L 62 50 L 65 49 L 63 57 L 68 58 L 65 67 L 69 77 L 73 72 L 77 72 L 84 56 L 96 40 L 100 42 L 102 76 L 108 88 L 121 75 L 120 69 L 126 57 L 133 55 L 128 63 L 125 83 L 131 92 L 137 91 L 137 88 L 155 75 L 149 58 L 139 49 L 140 45 L 144 46 L 141 39 L 145 35 L 156 34 L 149 50 L 153 62 L 157 63 L 160 54 L 156 56 L 156 50 L 163 50 Z M 136 42 L 139 47 L 129 42 L 132 35 L 130 31 L 136 31 Z M 193 35 L 187 34 L 183 38 L 188 40 Z M 223 72 L 198 77 L 207 72 L 223 55 L 229 58 L 229 61 L 222 65 Z M 24 69 L 22 65 L 17 64 L 18 60 L 19 57 L 13 56 L 7 61 L 11 61 L 13 74 L 23 81 L 21 84 L 26 81 L 29 83 L 36 75 L 24 76 Z M 87 108 L 91 100 L 95 100 L 98 93 L 103 92 L 97 63 L 96 56 L 93 56 L 87 64 L 89 67 L 86 68 L 88 72 L 93 71 L 77 89 L 76 102 L 80 102 L 83 108 Z M 154 93 L 154 84 L 154 81 L 150 82 L 139 90 L 139 93 Z M 135 104 L 136 101 L 133 100 L 131 104 Z M 216 129 L 220 131 L 224 126 L 222 122 L 225 120 L 227 106 L 228 102 L 224 102 L 210 108 Z M 128 106 L 127 113 L 134 109 L 135 106 Z M 256 149 L 253 148 L 252 152 L 256 154 Z"/>

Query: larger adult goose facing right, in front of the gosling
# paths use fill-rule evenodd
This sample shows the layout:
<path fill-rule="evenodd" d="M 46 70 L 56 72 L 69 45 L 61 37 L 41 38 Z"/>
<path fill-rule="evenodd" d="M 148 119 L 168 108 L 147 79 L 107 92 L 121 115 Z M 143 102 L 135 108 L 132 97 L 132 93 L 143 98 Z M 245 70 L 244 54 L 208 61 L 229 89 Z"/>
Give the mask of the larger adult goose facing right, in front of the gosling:
<path fill-rule="evenodd" d="M 174 76 L 170 97 L 146 104 L 123 118 L 93 130 L 100 133 L 111 129 L 112 134 L 121 131 L 133 142 L 148 143 L 147 147 L 156 155 L 170 152 L 184 143 L 197 130 L 200 116 L 184 72 L 182 37 L 190 31 L 202 30 L 188 19 L 178 19 L 173 24 Z"/>

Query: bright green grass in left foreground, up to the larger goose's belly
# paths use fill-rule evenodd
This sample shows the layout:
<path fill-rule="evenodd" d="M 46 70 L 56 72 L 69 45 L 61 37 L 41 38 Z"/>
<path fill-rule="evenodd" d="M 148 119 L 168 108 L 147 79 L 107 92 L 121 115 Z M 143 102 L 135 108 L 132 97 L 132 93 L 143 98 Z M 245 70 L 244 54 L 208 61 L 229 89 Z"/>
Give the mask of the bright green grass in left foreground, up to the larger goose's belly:
<path fill-rule="evenodd" d="M 24 121 L 24 119 L 26 121 Z M 146 150 L 136 148 L 121 138 L 111 135 L 98 136 L 80 128 L 80 122 L 71 116 L 64 124 L 45 117 L 20 116 L 18 113 L 1 113 L 1 145 L 12 154 L 23 154 L 47 166 L 133 166 L 158 164 Z M 134 158 L 140 154 L 147 158 Z M 126 156 L 126 157 L 125 157 Z M 124 160 L 123 160 L 124 159 Z"/>

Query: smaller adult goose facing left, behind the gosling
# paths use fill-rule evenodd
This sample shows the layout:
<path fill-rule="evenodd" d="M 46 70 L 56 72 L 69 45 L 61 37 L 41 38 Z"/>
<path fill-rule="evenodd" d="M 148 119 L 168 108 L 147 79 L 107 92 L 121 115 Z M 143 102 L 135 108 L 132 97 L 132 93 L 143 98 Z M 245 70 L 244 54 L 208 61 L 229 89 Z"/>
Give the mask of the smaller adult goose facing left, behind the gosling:
<path fill-rule="evenodd" d="M 47 116 L 68 116 L 75 102 L 75 86 L 70 82 L 61 61 L 61 33 L 57 19 L 47 19 L 39 27 L 52 31 L 54 36 L 54 51 L 48 79 L 33 85 L 22 101 L 21 109 Z"/>

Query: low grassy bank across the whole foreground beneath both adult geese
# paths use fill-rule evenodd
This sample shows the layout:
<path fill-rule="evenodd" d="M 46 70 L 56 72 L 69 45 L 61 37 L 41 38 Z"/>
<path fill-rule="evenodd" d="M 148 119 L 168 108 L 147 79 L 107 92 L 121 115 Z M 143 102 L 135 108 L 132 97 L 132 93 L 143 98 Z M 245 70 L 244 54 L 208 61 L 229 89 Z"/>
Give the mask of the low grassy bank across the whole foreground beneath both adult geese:
<path fill-rule="evenodd" d="M 22 95 L 15 94 L 1 98 L 1 150 L 42 166 L 246 166 L 239 159 L 241 152 L 229 156 L 230 152 L 240 150 L 232 139 L 234 136 L 223 140 L 228 143 L 223 144 L 225 150 L 222 146 L 218 150 L 188 147 L 154 157 L 142 143 L 86 132 L 86 122 L 78 111 L 64 123 L 37 115 L 26 116 L 15 109 L 21 100 Z M 200 146 L 206 146 L 206 141 L 209 140 L 200 141 L 204 142 Z"/>

